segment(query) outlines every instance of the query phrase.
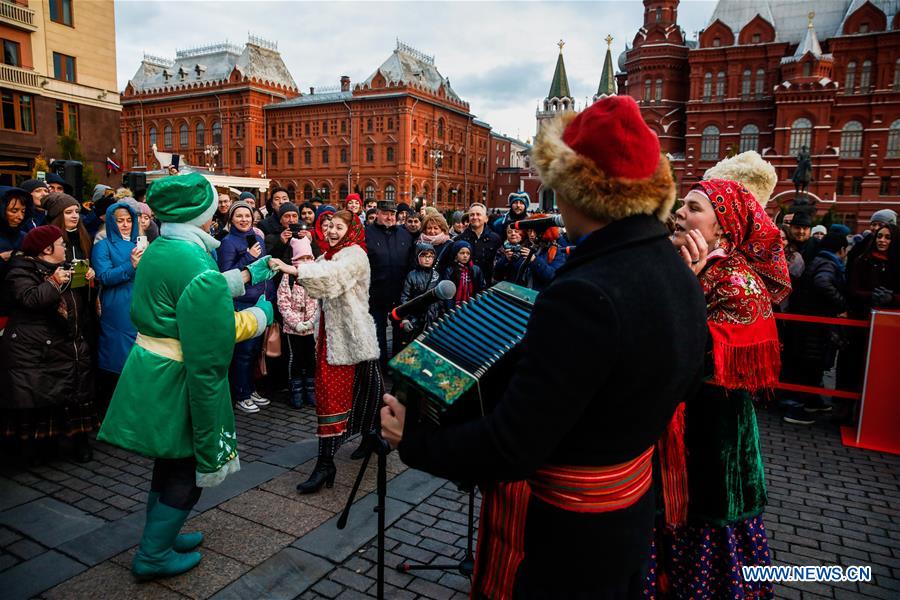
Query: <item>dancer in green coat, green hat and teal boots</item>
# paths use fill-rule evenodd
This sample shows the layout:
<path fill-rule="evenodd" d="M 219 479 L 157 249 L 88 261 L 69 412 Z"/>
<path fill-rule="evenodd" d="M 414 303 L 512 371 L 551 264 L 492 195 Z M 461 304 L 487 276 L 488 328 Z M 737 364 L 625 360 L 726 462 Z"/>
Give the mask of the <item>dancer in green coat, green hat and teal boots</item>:
<path fill-rule="evenodd" d="M 220 273 L 209 235 L 216 193 L 198 174 L 153 184 L 147 204 L 162 222 L 134 282 L 137 328 L 99 439 L 153 457 L 147 522 L 132 562 L 139 579 L 168 577 L 200 562 L 199 532 L 179 535 L 201 488 L 240 469 L 228 366 L 235 342 L 261 335 L 272 305 L 235 312 L 244 285 L 275 273 L 263 256 L 245 270 Z"/>

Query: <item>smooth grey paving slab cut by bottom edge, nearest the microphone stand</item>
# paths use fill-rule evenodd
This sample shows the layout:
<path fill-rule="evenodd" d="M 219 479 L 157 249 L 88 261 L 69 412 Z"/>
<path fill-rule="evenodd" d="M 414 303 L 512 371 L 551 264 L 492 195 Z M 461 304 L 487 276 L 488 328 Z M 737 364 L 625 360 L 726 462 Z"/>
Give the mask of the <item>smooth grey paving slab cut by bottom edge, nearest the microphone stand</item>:
<path fill-rule="evenodd" d="M 284 548 L 220 591 L 214 598 L 293 598 L 309 589 L 332 568 L 331 563 L 318 556 L 296 548 Z"/>

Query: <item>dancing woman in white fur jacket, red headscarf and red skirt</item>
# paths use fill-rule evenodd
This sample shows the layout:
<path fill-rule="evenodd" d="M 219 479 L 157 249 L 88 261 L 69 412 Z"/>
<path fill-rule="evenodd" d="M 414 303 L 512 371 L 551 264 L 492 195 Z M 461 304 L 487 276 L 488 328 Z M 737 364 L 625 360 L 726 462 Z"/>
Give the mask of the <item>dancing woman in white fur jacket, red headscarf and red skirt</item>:
<path fill-rule="evenodd" d="M 323 253 L 313 263 L 296 267 L 279 263 L 307 293 L 321 302 L 316 336 L 316 417 L 319 457 L 309 479 L 297 486 L 301 494 L 331 487 L 337 469 L 334 454 L 348 435 L 371 426 L 383 390 L 367 391 L 365 379 L 380 380 L 375 321 L 369 314 L 369 259 L 366 234 L 350 211 L 316 219 L 316 239 Z M 360 367 L 360 368 L 358 368 Z M 354 401 L 354 396 L 357 401 Z"/>

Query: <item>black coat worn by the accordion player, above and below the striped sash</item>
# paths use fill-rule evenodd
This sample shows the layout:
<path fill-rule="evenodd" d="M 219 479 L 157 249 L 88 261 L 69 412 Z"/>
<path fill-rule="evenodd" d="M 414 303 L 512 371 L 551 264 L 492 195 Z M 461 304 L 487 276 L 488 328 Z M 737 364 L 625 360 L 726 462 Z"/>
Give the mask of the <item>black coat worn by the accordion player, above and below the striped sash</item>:
<path fill-rule="evenodd" d="M 527 479 L 543 465 L 634 459 L 696 387 L 706 338 L 703 292 L 665 227 L 643 215 L 614 222 L 583 240 L 538 296 L 493 411 L 440 429 L 409 422 L 400 456 L 440 477 L 485 483 Z M 516 589 L 608 592 L 646 561 L 655 508 L 652 490 L 598 514 L 532 496 Z"/>

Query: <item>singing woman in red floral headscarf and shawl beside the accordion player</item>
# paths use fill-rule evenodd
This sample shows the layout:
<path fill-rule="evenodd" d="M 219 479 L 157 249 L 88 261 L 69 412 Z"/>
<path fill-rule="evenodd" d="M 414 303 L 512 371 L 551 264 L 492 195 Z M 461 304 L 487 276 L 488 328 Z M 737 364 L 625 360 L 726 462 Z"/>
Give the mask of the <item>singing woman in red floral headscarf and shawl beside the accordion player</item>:
<path fill-rule="evenodd" d="M 741 567 L 771 562 L 751 394 L 778 381 L 772 304 L 790 293 L 787 262 L 775 224 L 739 183 L 698 183 L 675 217 L 672 241 L 706 295 L 711 351 L 685 403 L 687 510 L 657 530 L 648 595 L 769 598 L 771 583 L 745 581 Z"/>

